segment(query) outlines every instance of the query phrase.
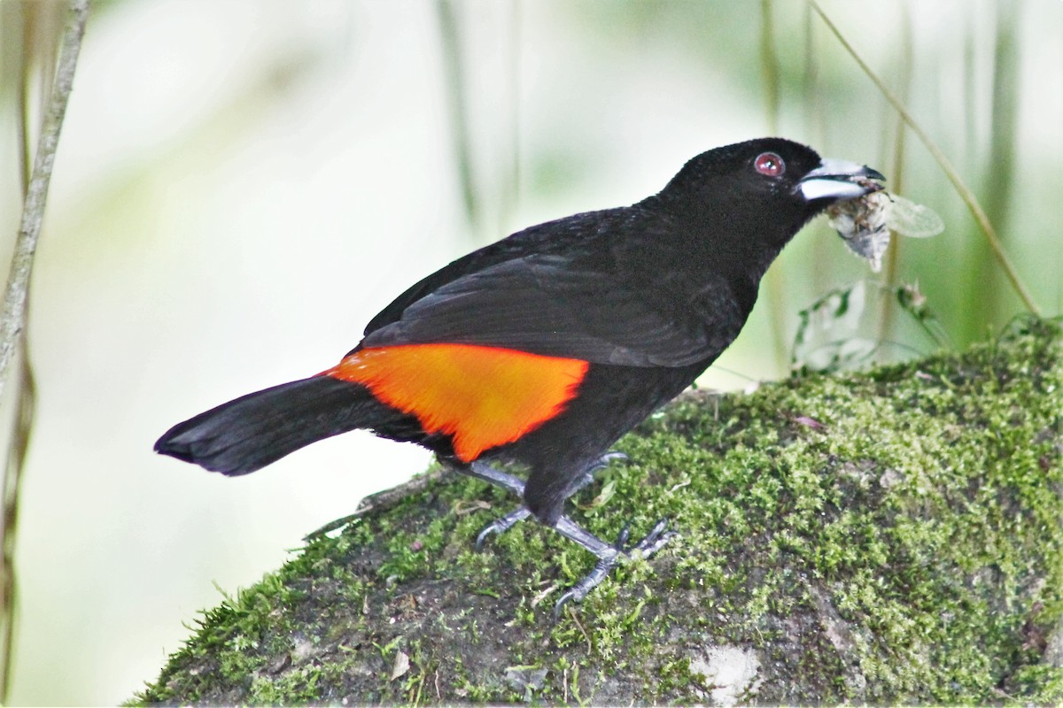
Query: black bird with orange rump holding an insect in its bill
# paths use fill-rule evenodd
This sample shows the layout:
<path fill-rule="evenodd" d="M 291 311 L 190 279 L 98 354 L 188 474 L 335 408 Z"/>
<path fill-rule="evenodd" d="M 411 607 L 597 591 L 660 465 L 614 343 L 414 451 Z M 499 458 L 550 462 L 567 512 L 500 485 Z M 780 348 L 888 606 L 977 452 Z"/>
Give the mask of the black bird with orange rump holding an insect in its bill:
<path fill-rule="evenodd" d="M 629 524 L 608 542 L 566 513 L 567 500 L 738 336 L 797 231 L 882 180 L 784 138 L 709 150 L 631 206 L 549 221 L 458 258 L 394 298 L 338 363 L 178 424 L 154 449 L 239 476 L 355 429 L 421 445 L 520 500 L 477 548 L 534 517 L 596 557 L 558 612 L 675 534 L 660 520 L 637 543 Z"/>

